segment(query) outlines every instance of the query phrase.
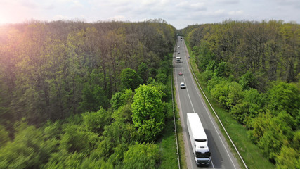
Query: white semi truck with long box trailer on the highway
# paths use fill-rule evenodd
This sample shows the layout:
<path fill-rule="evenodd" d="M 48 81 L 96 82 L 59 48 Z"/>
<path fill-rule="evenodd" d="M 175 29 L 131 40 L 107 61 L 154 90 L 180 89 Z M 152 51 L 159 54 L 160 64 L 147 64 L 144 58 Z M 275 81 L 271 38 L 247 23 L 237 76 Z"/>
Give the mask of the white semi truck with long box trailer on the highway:
<path fill-rule="evenodd" d="M 187 113 L 187 125 L 196 164 L 209 165 L 211 153 L 207 144 L 207 134 L 197 113 Z"/>

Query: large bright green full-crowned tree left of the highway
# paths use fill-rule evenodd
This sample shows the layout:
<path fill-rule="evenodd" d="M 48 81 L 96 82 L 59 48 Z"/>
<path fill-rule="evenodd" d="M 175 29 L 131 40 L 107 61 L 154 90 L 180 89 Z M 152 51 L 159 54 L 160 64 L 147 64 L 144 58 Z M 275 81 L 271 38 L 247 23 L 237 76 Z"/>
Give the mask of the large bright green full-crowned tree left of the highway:
<path fill-rule="evenodd" d="M 154 141 L 164 127 L 162 94 L 155 87 L 145 84 L 133 96 L 133 125 L 138 128 L 141 142 Z"/>

